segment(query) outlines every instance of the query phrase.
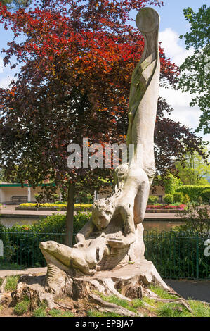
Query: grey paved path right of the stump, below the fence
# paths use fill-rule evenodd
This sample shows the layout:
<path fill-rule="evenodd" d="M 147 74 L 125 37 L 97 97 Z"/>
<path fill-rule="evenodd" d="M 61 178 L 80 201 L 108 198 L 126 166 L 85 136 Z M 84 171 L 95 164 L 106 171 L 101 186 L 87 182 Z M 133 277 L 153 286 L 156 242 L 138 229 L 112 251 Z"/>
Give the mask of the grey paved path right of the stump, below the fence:
<path fill-rule="evenodd" d="M 210 280 L 164 280 L 183 298 L 210 303 Z"/>

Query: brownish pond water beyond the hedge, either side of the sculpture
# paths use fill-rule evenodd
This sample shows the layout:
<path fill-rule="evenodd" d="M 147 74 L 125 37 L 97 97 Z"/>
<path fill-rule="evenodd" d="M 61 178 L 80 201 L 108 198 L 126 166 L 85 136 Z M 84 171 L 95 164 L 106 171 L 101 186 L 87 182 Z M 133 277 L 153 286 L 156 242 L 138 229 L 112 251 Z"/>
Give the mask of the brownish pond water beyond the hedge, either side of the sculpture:
<path fill-rule="evenodd" d="M 0 223 L 3 224 L 6 227 L 12 227 L 16 223 L 19 225 L 32 225 L 34 223 L 37 223 L 39 218 L 12 218 L 12 217 L 0 217 Z M 173 229 L 173 227 L 176 227 L 178 225 L 182 225 L 182 222 L 178 221 L 162 221 L 162 220 L 144 220 L 143 226 L 145 230 L 152 231 L 156 230 L 158 232 L 160 231 L 170 231 Z"/>

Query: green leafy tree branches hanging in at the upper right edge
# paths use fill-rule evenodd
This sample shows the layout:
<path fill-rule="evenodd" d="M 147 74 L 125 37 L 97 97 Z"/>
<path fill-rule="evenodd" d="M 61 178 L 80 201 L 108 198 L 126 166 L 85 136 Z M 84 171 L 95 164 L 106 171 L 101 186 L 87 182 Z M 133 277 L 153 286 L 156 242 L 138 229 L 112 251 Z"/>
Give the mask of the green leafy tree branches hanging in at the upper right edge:
<path fill-rule="evenodd" d="M 203 5 L 195 13 L 192 8 L 183 10 L 186 20 L 190 23 L 190 32 L 185 37 L 186 49 L 194 47 L 194 54 L 188 56 L 181 65 L 181 79 L 179 87 L 188 91 L 192 96 L 190 106 L 197 104 L 202 111 L 199 118 L 199 126 L 196 132 L 204 130 L 204 134 L 210 133 L 209 113 L 209 83 L 210 83 L 210 7 Z"/>

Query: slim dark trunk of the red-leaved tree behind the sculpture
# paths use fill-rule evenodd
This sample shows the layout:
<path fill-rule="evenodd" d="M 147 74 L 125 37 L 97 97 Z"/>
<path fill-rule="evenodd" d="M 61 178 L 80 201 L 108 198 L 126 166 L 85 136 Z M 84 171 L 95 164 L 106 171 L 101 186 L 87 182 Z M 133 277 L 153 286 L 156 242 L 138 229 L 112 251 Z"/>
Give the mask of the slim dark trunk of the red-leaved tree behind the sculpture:
<path fill-rule="evenodd" d="M 74 223 L 74 183 L 69 182 L 67 194 L 67 214 L 65 227 L 65 245 L 72 247 Z"/>

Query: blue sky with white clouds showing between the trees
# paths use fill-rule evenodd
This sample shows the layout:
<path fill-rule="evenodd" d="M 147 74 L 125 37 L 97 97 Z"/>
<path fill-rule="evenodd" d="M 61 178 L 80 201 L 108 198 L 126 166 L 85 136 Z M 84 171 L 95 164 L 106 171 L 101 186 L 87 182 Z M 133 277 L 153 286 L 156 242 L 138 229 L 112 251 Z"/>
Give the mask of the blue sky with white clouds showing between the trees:
<path fill-rule="evenodd" d="M 185 58 L 193 54 L 193 49 L 186 51 L 185 43 L 183 39 L 179 39 L 179 35 L 185 35 L 190 31 L 190 24 L 183 15 L 184 8 L 192 8 L 197 11 L 203 4 L 209 6 L 210 0 L 163 0 L 164 6 L 152 6 L 159 13 L 160 16 L 160 28 L 159 28 L 159 40 L 162 42 L 166 57 L 171 58 L 171 62 L 181 65 Z M 136 17 L 136 12 L 131 14 L 133 18 Z M 6 43 L 11 41 L 12 33 L 10 30 L 5 31 L 0 25 L 1 43 L 0 49 L 6 47 Z M 9 68 L 4 68 L 3 56 L 0 54 L 0 87 L 8 87 L 11 78 L 15 74 L 15 71 Z M 191 95 L 187 92 L 175 91 L 171 88 L 159 89 L 159 95 L 163 96 L 166 101 L 174 109 L 173 113 L 169 115 L 172 120 L 181 122 L 183 125 L 190 127 L 192 130 L 198 126 L 199 107 L 190 107 Z M 197 134 L 206 141 L 210 141 L 210 135 L 203 135 L 202 132 Z"/>

